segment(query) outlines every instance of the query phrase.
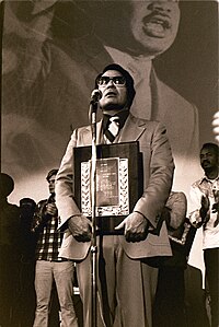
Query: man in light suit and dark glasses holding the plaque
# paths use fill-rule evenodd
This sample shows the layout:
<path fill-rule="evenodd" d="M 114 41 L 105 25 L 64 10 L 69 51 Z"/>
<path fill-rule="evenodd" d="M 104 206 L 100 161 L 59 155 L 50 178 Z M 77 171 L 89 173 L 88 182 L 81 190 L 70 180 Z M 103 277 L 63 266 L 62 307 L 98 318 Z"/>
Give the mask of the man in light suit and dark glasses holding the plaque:
<path fill-rule="evenodd" d="M 134 80 L 120 66 L 107 66 L 96 78 L 102 92 L 103 119 L 96 125 L 96 142 L 138 141 L 142 153 L 142 196 L 116 227 L 113 235 L 97 237 L 97 326 L 151 327 L 152 302 L 158 268 L 154 257 L 171 256 L 165 224 L 159 214 L 169 197 L 174 163 L 164 126 L 134 117 Z M 112 127 L 111 120 L 119 118 Z M 117 135 L 114 135 L 114 131 Z M 108 137 L 108 133 L 112 135 Z M 84 326 L 91 326 L 91 221 L 74 201 L 73 148 L 91 145 L 91 127 L 73 131 L 56 180 L 59 227 L 67 227 L 60 256 L 78 261 L 78 281 L 83 302 Z M 124 229 L 124 235 L 120 230 Z"/>

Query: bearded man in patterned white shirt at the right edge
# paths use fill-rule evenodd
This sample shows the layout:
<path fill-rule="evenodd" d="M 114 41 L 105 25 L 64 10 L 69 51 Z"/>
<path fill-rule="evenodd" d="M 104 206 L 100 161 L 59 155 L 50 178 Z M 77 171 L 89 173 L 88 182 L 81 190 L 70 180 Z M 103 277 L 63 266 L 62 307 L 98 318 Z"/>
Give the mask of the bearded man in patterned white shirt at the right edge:
<path fill-rule="evenodd" d="M 211 327 L 219 326 L 219 147 L 205 143 L 200 149 L 200 166 L 205 175 L 191 187 L 189 220 L 203 226 L 206 279 L 210 294 Z"/>

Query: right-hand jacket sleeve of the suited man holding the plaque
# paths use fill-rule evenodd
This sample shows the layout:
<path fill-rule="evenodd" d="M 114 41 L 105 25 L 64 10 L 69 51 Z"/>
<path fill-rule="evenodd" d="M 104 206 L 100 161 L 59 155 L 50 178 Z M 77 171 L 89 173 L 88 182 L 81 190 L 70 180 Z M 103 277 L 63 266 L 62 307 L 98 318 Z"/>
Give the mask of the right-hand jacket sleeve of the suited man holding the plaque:
<path fill-rule="evenodd" d="M 149 137 L 150 136 L 150 137 Z M 145 139 L 143 139 L 145 138 Z M 157 227 L 161 211 L 171 191 L 174 163 L 166 129 L 155 122 L 153 131 L 146 130 L 139 140 L 143 153 L 145 189 L 134 211 L 141 212 Z"/>

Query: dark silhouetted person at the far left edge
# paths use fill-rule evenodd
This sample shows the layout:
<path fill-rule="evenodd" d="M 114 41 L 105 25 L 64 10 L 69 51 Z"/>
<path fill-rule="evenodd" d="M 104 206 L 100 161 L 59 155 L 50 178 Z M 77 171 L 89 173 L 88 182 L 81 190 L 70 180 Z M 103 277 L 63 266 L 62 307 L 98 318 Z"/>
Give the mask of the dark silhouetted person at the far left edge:
<path fill-rule="evenodd" d="M 8 201 L 13 178 L 0 173 L 0 326 L 14 327 L 19 319 L 21 218 L 20 208 Z"/>

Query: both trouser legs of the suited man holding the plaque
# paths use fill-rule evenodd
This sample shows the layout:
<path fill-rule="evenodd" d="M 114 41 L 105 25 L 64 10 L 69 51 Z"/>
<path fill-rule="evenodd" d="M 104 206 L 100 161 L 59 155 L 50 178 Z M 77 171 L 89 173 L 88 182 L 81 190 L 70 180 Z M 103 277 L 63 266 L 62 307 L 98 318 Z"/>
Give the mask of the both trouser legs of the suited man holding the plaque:
<path fill-rule="evenodd" d="M 158 269 L 123 250 L 123 236 L 99 238 L 97 326 L 151 327 Z M 84 327 L 91 319 L 91 257 L 77 265 Z M 100 277 L 100 278 L 99 278 Z"/>

